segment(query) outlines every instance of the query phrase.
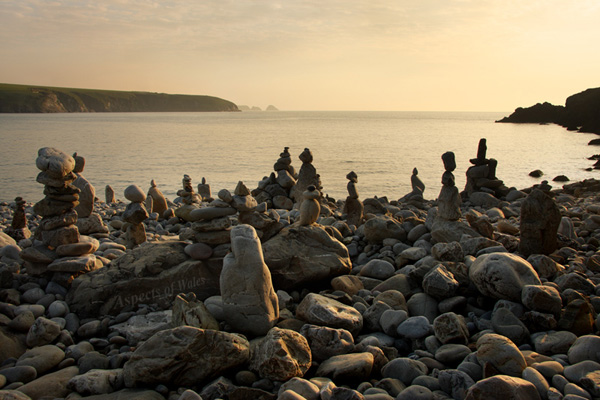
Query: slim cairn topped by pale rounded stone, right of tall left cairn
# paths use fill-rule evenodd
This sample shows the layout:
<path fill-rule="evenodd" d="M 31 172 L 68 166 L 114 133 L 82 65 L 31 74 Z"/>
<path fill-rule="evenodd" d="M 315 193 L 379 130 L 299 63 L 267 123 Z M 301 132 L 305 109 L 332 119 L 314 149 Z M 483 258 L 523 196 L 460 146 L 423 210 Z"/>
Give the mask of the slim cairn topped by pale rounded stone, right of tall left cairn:
<path fill-rule="evenodd" d="M 146 195 L 137 185 L 128 186 L 124 195 L 131 203 L 123 212 L 122 218 L 127 224 L 122 229 L 126 232 L 126 247 L 132 249 L 146 241 L 146 228 L 144 227 L 144 221 L 148 218 L 148 211 L 144 205 Z"/>

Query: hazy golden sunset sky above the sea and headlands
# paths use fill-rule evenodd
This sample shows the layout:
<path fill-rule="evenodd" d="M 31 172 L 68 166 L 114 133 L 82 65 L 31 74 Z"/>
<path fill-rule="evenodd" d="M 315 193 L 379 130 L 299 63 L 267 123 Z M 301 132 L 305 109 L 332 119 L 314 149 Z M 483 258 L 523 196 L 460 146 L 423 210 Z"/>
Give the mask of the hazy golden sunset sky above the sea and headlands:
<path fill-rule="evenodd" d="M 512 111 L 600 86 L 598 21 L 597 0 L 0 0 L 0 82 Z"/>

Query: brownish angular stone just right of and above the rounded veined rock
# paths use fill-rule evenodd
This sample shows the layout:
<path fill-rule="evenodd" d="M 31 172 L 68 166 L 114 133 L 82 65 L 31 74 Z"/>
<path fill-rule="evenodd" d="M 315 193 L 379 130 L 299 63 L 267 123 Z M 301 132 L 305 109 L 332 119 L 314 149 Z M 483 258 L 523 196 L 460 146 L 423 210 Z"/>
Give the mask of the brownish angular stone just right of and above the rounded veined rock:
<path fill-rule="evenodd" d="M 346 329 L 304 324 L 300 334 L 306 338 L 314 360 L 323 361 L 354 350 L 354 338 Z"/>

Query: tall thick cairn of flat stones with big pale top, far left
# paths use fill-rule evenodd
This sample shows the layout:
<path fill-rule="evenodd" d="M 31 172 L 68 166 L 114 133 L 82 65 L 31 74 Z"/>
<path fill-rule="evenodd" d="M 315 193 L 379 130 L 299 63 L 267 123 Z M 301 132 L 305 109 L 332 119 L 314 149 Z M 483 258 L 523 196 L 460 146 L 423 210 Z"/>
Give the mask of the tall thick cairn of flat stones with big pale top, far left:
<path fill-rule="evenodd" d="M 68 287 L 76 276 L 102 267 L 92 254 L 99 243 L 80 235 L 76 225 L 79 189 L 73 185 L 77 178 L 73 157 L 44 147 L 38 151 L 36 166 L 42 171 L 36 180 L 44 185 L 46 195 L 33 206 L 42 217 L 34 235 L 42 244 L 25 248 L 21 258 L 29 274 L 53 273 L 53 281 Z"/>

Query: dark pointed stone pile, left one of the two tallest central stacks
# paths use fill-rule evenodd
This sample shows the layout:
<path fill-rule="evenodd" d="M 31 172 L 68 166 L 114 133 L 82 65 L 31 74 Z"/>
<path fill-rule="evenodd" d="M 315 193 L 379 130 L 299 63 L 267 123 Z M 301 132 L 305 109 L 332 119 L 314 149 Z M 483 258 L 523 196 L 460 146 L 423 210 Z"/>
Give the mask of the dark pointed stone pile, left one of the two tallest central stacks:
<path fill-rule="evenodd" d="M 265 176 L 258 183 L 258 188 L 252 191 L 252 195 L 259 203 L 267 203 L 269 208 L 291 210 L 294 200 L 290 198 L 290 192 L 296 185 L 296 172 L 292 166 L 289 147 L 284 148 L 279 156 L 273 166 L 275 173 Z"/>

